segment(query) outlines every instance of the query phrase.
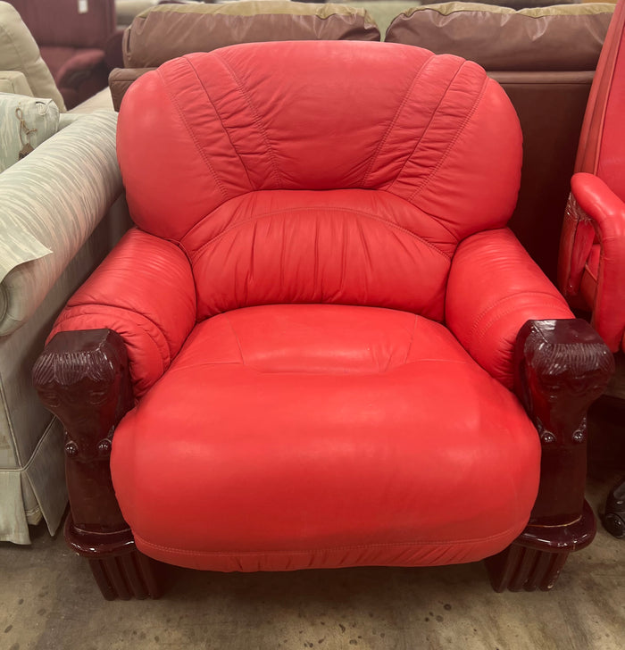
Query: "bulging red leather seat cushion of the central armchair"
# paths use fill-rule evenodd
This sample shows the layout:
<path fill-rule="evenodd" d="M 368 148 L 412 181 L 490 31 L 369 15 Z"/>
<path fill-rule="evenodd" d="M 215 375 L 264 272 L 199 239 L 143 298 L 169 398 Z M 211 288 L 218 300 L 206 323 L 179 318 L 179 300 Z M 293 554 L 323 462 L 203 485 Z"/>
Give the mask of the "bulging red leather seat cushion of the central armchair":
<path fill-rule="evenodd" d="M 144 553 L 217 571 L 495 554 L 537 494 L 521 405 L 442 325 L 329 304 L 225 312 L 121 421 L 112 476 Z"/>

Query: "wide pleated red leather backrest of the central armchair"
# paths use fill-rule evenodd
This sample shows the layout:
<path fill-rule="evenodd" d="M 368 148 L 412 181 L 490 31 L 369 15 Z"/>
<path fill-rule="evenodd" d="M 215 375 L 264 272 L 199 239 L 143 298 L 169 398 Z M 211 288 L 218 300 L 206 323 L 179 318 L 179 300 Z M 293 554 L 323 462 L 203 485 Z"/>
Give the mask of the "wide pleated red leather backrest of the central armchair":
<path fill-rule="evenodd" d="M 338 303 L 442 320 L 458 242 L 512 213 L 521 129 L 455 56 L 255 43 L 137 79 L 118 156 L 137 226 L 187 253 L 198 318 Z"/>

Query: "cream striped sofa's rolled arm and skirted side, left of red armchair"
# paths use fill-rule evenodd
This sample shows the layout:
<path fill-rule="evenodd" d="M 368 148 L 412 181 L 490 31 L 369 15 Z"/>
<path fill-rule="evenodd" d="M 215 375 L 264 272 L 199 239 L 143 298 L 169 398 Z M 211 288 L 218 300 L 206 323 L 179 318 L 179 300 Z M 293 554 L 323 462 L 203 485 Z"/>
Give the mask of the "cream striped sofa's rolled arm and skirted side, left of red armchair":
<path fill-rule="evenodd" d="M 0 541 L 51 533 L 67 495 L 61 424 L 39 404 L 32 364 L 54 317 L 128 227 L 117 114 L 85 115 L 0 173 Z"/>

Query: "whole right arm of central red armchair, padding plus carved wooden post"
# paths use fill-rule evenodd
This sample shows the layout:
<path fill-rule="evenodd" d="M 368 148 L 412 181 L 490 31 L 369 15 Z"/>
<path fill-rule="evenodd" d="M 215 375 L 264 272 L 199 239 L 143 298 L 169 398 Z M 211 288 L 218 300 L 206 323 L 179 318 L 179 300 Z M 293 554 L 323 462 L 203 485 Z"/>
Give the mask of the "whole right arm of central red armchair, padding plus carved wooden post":
<path fill-rule="evenodd" d="M 514 390 L 541 443 L 540 483 L 527 528 L 487 560 L 497 591 L 550 589 L 571 551 L 595 537 L 584 500 L 588 406 L 613 358 L 508 229 L 467 238 L 454 255 L 446 321 L 471 356 Z"/>

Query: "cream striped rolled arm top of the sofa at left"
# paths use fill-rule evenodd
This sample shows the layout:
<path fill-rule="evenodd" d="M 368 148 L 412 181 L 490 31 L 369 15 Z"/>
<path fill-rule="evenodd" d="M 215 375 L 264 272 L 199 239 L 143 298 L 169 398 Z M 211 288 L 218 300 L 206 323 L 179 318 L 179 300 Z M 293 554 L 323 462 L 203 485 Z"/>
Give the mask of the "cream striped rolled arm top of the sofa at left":
<path fill-rule="evenodd" d="M 0 335 L 47 295 L 115 199 L 117 114 L 81 117 L 0 174 Z"/>

